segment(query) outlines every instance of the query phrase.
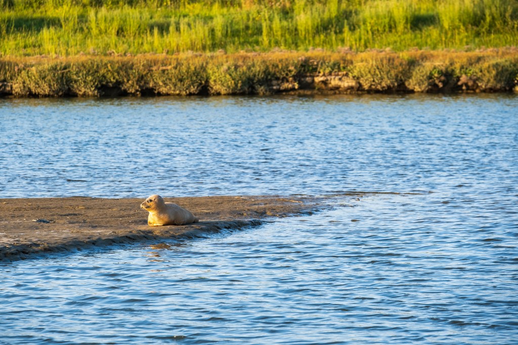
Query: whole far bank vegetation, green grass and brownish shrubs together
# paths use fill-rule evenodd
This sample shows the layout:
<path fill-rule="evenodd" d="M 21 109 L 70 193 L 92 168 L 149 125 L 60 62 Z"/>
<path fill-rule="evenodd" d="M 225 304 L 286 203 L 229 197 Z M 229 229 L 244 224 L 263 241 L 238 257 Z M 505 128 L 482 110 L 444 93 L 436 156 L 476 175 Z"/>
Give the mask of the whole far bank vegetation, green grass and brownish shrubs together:
<path fill-rule="evenodd" d="M 517 43 L 516 0 L 0 0 L 0 95 L 509 91 Z"/>

